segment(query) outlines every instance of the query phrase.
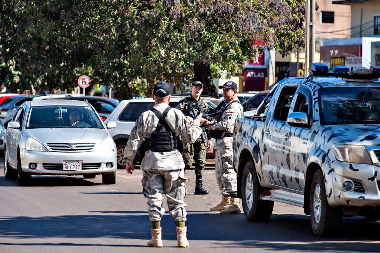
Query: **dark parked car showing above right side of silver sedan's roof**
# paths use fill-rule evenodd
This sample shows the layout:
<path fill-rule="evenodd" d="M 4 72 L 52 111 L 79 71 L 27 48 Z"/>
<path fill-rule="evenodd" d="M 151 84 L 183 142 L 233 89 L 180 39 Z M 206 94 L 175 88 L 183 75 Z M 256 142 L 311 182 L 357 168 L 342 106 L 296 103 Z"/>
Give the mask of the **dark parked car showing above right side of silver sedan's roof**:
<path fill-rule="evenodd" d="M 68 100 L 79 100 L 86 101 L 91 104 L 97 113 L 100 115 L 102 121 L 105 121 L 111 114 L 111 112 L 119 104 L 119 100 L 107 97 L 97 97 L 97 96 L 70 96 L 59 99 L 68 99 Z"/>

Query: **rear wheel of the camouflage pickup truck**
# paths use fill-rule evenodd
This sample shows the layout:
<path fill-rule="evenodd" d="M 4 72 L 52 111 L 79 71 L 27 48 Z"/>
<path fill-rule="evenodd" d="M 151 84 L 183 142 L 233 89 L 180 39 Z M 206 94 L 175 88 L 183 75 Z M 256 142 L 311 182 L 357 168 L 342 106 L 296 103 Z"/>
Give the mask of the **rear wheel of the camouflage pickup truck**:
<path fill-rule="evenodd" d="M 261 200 L 262 192 L 253 162 L 248 161 L 243 170 L 241 196 L 243 211 L 249 221 L 268 221 L 272 215 L 273 201 Z"/>

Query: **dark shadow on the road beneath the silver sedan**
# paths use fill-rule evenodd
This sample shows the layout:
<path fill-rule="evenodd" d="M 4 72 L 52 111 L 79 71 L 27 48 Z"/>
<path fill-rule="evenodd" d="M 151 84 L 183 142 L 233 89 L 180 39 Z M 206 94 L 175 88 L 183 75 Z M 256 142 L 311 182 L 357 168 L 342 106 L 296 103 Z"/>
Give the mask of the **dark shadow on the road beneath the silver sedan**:
<path fill-rule="evenodd" d="M 87 181 L 83 178 L 69 176 L 32 176 L 30 184 L 26 187 L 40 186 L 94 186 L 100 183 Z M 6 180 L 4 176 L 0 176 L 0 187 L 19 186 L 15 180 Z"/>

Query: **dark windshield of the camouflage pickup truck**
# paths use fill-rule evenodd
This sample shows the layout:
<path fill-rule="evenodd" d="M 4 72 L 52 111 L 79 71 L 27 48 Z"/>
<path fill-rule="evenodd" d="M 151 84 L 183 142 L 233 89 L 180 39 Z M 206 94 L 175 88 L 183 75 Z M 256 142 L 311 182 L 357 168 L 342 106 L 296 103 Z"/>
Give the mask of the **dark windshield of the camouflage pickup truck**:
<path fill-rule="evenodd" d="M 324 88 L 319 96 L 322 125 L 380 123 L 380 88 Z"/>

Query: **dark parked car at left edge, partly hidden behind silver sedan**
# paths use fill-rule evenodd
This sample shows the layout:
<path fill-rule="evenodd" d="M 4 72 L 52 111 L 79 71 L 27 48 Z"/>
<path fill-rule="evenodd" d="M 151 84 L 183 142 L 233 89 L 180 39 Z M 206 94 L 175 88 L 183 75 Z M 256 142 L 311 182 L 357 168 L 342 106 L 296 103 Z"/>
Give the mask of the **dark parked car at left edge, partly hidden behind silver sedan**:
<path fill-rule="evenodd" d="M 4 124 L 4 127 L 6 128 L 8 126 L 8 122 L 12 120 L 14 113 L 22 103 L 30 101 L 38 96 L 39 95 L 20 95 L 6 99 L 0 106 L 0 119 Z"/>

